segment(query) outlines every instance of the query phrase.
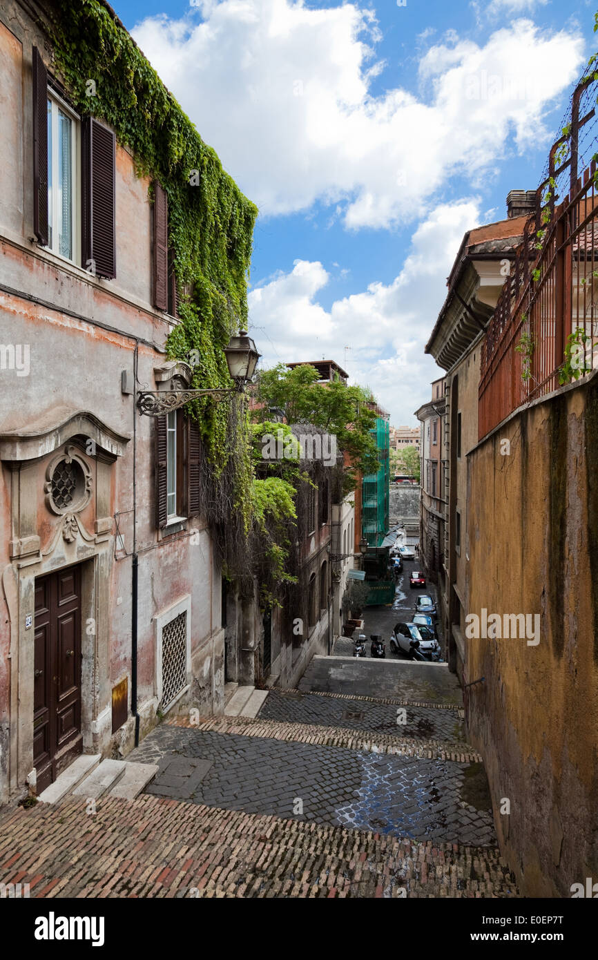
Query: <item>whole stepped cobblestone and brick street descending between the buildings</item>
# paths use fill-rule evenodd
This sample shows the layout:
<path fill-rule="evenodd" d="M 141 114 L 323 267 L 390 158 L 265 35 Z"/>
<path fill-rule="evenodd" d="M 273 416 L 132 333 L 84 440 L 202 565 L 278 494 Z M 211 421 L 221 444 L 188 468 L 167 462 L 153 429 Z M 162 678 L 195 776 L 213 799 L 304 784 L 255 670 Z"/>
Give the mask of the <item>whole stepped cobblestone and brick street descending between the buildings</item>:
<path fill-rule="evenodd" d="M 339 684 L 339 665 L 312 661 L 301 685 Z M 516 897 L 453 676 L 357 666 L 362 694 L 275 689 L 253 719 L 161 724 L 130 755 L 159 768 L 133 801 L 5 812 L 0 881 L 34 897 Z"/>

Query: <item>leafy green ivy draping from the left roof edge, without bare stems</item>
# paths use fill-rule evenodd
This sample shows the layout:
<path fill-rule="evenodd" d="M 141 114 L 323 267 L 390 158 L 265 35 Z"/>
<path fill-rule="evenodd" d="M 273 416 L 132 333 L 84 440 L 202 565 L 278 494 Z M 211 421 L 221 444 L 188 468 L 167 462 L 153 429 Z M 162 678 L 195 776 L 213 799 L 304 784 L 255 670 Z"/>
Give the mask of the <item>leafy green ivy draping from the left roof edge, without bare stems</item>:
<path fill-rule="evenodd" d="M 181 298 L 168 356 L 186 359 L 197 351 L 192 386 L 230 386 L 223 348 L 230 334 L 247 324 L 257 208 L 103 3 L 65 0 L 50 8 L 50 18 L 56 65 L 75 107 L 108 123 L 118 142 L 132 151 L 138 175 L 158 180 L 168 196 L 179 291 L 191 291 Z M 87 95 L 89 80 L 95 84 L 93 96 Z M 199 172 L 198 185 L 192 185 L 193 171 Z M 204 397 L 192 410 L 217 471 L 229 453 L 225 407 Z"/>

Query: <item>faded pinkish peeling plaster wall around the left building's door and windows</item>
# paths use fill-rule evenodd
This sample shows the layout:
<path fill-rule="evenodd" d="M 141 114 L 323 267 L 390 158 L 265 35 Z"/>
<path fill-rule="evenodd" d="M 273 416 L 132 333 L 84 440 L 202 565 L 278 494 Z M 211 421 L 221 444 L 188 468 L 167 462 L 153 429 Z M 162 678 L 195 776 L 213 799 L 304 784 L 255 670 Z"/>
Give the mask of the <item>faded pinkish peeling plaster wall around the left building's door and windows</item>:
<path fill-rule="evenodd" d="M 44 498 L 48 462 L 68 442 L 52 452 L 40 446 L 37 459 L 23 462 L 17 472 L 11 466 L 15 461 L 0 463 L 0 803 L 24 789 L 33 765 L 34 631 L 25 633 L 23 624 L 34 612 L 35 577 L 50 570 L 84 562 L 82 619 L 92 612 L 98 620 L 95 639 L 84 637 L 85 751 L 124 756 L 133 745 L 133 544 L 139 557 L 140 735 L 155 725 L 158 707 L 155 616 L 187 595 L 192 676 L 178 707 L 195 705 L 204 713 L 224 708 L 221 579 L 212 544 L 202 517 L 190 517 L 185 529 L 169 538 L 156 530 L 155 420 L 135 415 L 133 396 L 121 391 L 121 373 L 133 374 L 134 338 L 139 338 L 139 389 L 156 389 L 154 371 L 165 362 L 174 323 L 152 305 L 150 183 L 136 176 L 133 157 L 117 146 L 115 279 L 91 276 L 37 246 L 32 240 L 33 45 L 50 66 L 40 25 L 14 0 L 6 0 L 0 11 L 0 282 L 26 296 L 0 291 L 0 344 L 29 345 L 30 372 L 21 376 L 6 365 L 0 369 L 0 434 L 22 434 L 41 420 L 49 429 L 64 419 L 64 411 L 88 411 L 125 442 L 113 463 L 79 450 L 91 471 L 92 497 L 78 515 L 81 530 L 70 543 L 60 535 L 62 518 L 48 510 Z M 98 533 L 98 521 L 107 529 Z M 23 539 L 23 530 L 27 542 L 18 549 L 29 551 L 25 561 L 12 545 Z M 29 542 L 36 538 L 37 550 Z M 112 733 L 111 690 L 125 677 L 128 719 Z"/>

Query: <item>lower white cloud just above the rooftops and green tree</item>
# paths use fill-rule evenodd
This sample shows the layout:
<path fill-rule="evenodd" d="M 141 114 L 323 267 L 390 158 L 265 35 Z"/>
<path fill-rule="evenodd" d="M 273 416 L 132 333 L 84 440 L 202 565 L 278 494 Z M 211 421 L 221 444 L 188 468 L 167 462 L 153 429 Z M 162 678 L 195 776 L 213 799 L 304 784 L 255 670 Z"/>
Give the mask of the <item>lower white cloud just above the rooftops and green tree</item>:
<path fill-rule="evenodd" d="M 440 204 L 419 225 L 411 251 L 392 283 L 318 302 L 330 275 L 320 262 L 296 260 L 288 274 L 250 292 L 250 322 L 262 363 L 317 360 L 341 366 L 370 384 L 394 423 L 408 423 L 440 373 L 423 348 L 446 296 L 445 277 L 467 229 L 479 223 L 478 201 Z"/>

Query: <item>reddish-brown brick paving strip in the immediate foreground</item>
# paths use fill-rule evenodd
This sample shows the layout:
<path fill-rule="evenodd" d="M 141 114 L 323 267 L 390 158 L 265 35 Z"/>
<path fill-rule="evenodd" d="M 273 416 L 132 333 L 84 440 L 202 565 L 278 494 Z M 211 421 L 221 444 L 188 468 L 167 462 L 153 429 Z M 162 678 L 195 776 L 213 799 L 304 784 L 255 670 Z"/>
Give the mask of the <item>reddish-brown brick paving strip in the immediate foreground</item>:
<path fill-rule="evenodd" d="M 0 815 L 0 882 L 32 898 L 517 897 L 491 848 L 418 843 L 142 795 Z M 57 903 L 57 907 L 59 904 Z"/>

